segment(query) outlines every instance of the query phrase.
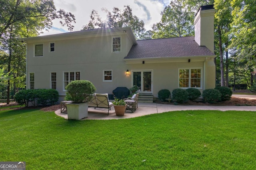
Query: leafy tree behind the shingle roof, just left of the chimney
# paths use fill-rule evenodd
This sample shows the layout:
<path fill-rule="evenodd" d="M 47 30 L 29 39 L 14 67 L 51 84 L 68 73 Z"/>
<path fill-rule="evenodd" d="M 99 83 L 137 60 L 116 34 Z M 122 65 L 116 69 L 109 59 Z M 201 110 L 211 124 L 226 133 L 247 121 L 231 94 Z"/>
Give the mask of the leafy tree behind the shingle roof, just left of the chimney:
<path fill-rule="evenodd" d="M 152 38 L 184 37 L 194 35 L 194 13 L 184 0 L 172 0 L 161 12 L 161 21 L 152 27 Z"/>

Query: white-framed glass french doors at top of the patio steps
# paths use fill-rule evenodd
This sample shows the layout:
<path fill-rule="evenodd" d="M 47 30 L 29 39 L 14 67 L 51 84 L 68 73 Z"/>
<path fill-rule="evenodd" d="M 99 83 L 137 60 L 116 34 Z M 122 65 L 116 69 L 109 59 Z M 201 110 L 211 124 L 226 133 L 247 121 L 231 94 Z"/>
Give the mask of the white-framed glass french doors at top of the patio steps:
<path fill-rule="evenodd" d="M 132 71 L 132 85 L 138 86 L 141 93 L 153 93 L 152 70 Z"/>

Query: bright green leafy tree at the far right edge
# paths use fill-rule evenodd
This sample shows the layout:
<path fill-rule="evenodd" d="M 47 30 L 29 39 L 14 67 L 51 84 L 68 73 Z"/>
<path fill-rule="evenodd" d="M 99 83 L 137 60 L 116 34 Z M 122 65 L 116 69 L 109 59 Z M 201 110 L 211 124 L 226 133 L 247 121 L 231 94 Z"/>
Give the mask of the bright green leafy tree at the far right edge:
<path fill-rule="evenodd" d="M 231 47 L 236 49 L 236 60 L 244 62 L 244 70 L 249 72 L 256 68 L 256 1 L 232 0 L 232 38 Z M 249 73 L 250 74 L 250 73 Z M 248 74 L 247 74 L 248 75 Z M 254 76 L 250 74 L 250 85 Z"/>

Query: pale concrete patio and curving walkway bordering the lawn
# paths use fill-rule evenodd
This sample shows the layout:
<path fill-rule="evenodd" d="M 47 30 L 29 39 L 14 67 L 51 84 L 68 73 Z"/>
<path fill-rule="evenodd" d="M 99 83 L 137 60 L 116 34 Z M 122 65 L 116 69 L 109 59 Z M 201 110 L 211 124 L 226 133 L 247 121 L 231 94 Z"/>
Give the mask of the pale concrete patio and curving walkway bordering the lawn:
<path fill-rule="evenodd" d="M 181 110 L 237 110 L 237 111 L 256 111 L 256 106 L 184 106 L 184 105 L 168 105 L 156 103 L 138 103 L 138 108 L 134 113 L 125 112 L 124 116 L 116 116 L 114 107 L 111 107 L 108 115 L 108 109 L 88 109 L 88 117 L 82 120 L 89 119 L 127 119 L 153 113 L 163 113 L 166 111 L 181 111 Z M 68 119 L 67 113 L 60 113 L 60 110 L 55 111 L 56 115 Z"/>

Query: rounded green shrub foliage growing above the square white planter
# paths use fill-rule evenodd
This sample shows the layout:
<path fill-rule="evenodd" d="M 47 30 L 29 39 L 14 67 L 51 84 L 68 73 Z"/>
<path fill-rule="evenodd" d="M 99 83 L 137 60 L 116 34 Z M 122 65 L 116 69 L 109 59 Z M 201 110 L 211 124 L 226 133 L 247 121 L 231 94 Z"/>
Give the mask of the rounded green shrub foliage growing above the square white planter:
<path fill-rule="evenodd" d="M 96 88 L 88 80 L 75 80 L 66 86 L 66 90 L 66 100 L 71 100 L 73 103 L 83 103 L 90 101 Z"/>

